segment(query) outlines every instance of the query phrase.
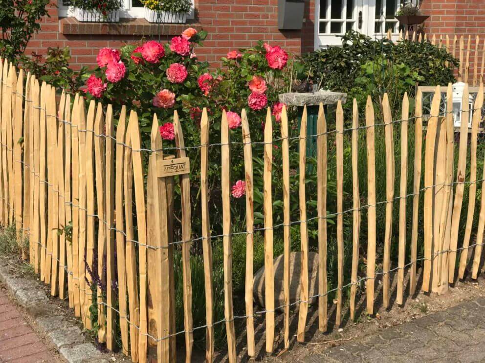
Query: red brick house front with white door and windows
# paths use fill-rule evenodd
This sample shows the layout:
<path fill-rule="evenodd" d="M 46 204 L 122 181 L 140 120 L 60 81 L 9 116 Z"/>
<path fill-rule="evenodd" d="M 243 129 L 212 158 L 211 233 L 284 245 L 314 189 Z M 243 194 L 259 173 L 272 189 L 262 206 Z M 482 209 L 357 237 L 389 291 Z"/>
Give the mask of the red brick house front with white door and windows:
<path fill-rule="evenodd" d="M 145 38 L 167 40 L 187 26 L 209 33 L 198 57 L 217 66 L 220 57 L 234 48 L 248 47 L 257 40 L 278 44 L 300 54 L 319 47 L 339 44 L 339 34 L 354 29 L 371 37 L 381 37 L 388 28 L 396 37 L 394 14 L 400 0 L 306 0 L 301 30 L 278 29 L 278 0 L 194 0 L 195 11 L 186 24 L 151 24 L 143 19 L 139 0 L 123 0 L 120 23 L 81 23 L 65 6 L 49 9 L 41 32 L 29 43 L 27 52 L 45 53 L 47 47 L 69 46 L 73 67 L 95 64 L 102 47 L 119 47 Z M 427 33 L 440 35 L 485 34 L 485 0 L 422 0 Z M 485 37 L 482 37 L 484 39 Z M 472 55 L 473 56 L 473 55 Z"/>

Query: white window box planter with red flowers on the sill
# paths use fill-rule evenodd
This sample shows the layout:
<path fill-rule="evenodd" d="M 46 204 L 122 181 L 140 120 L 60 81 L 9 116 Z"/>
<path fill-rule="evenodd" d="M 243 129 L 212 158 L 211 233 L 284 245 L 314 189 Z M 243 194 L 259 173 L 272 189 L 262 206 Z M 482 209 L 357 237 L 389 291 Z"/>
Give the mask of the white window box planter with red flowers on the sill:
<path fill-rule="evenodd" d="M 120 0 L 71 0 L 74 17 L 83 22 L 118 22 Z"/>

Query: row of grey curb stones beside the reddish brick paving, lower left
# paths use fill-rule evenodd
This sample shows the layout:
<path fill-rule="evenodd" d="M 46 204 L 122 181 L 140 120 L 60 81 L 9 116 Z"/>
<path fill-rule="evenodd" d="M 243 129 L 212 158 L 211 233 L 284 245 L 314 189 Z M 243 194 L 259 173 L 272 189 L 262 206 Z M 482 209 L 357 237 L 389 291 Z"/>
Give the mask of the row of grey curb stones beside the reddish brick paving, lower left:
<path fill-rule="evenodd" d="M 0 257 L 0 282 L 4 283 L 9 293 L 27 310 L 38 330 L 49 338 L 68 363 L 109 363 L 110 354 L 101 353 L 96 347 L 86 342 L 81 329 L 74 323 L 55 315 L 57 306 L 47 298 L 44 289 L 36 282 L 18 277 L 5 267 L 5 258 Z M 128 357 L 125 362 L 131 362 Z"/>

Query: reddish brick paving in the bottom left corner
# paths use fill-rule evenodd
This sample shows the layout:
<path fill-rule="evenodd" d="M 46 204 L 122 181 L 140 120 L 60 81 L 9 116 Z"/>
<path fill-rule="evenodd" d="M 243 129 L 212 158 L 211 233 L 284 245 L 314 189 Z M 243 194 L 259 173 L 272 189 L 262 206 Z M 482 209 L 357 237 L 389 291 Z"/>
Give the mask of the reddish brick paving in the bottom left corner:
<path fill-rule="evenodd" d="M 0 289 L 0 363 L 58 362 Z"/>

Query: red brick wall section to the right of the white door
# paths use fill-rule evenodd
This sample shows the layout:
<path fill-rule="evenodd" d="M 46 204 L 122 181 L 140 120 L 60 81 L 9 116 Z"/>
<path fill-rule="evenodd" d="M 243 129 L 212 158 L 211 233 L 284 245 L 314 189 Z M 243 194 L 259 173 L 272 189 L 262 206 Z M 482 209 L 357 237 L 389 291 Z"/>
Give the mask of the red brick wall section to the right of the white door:
<path fill-rule="evenodd" d="M 477 60 L 477 72 L 482 74 L 481 62 L 485 40 L 485 0 L 423 0 L 421 12 L 430 15 L 425 22 L 425 32 L 435 34 L 437 39 L 449 36 L 453 42 L 455 36 L 465 38 L 467 47 L 468 36 L 471 36 L 470 45 L 470 81 Z M 480 37 L 479 52 L 475 55 L 476 36 Z M 458 45 L 457 45 L 458 46 Z M 477 58 L 476 58 L 477 56 Z M 458 49 L 456 51 L 458 57 Z"/>

